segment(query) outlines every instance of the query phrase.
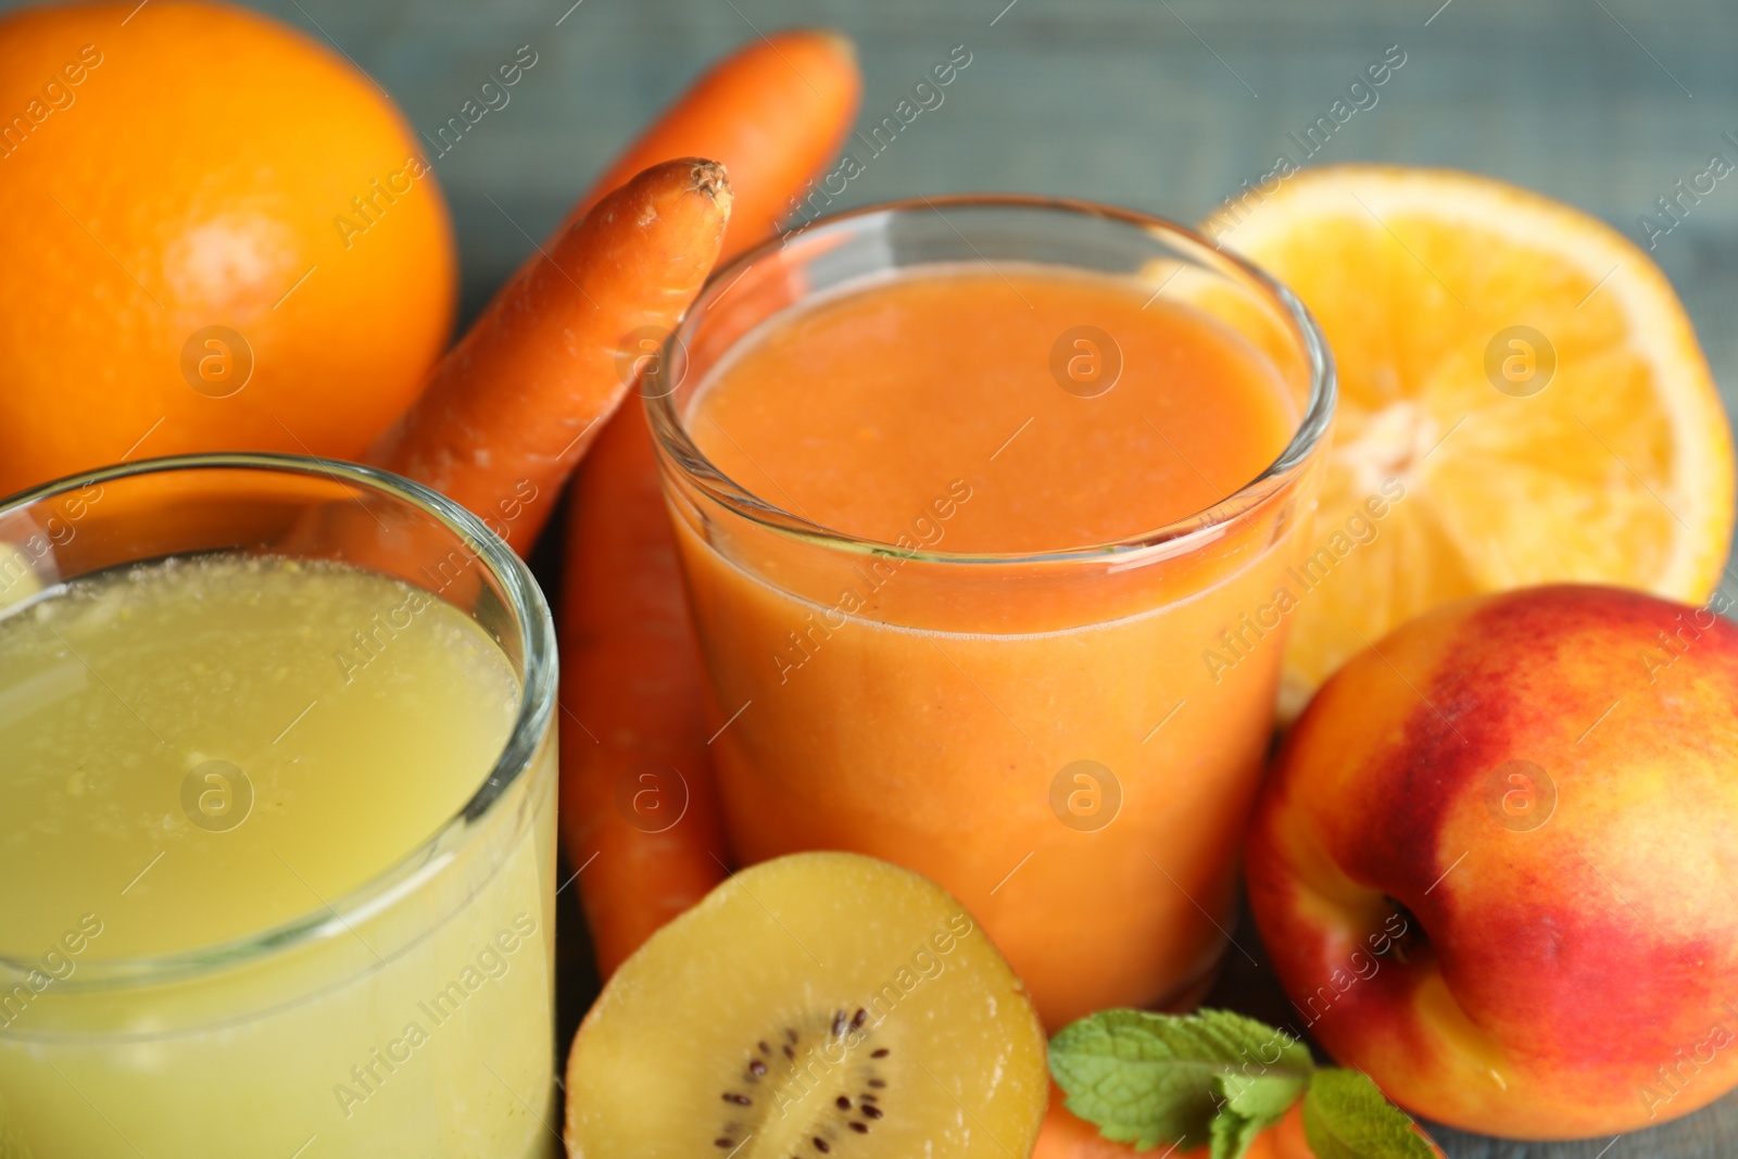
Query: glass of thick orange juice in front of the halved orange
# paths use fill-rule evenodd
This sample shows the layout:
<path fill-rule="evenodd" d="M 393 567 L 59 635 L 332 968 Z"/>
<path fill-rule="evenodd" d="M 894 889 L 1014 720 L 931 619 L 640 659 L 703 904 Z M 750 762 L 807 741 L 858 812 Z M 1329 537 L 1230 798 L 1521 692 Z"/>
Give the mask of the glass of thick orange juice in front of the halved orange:
<path fill-rule="evenodd" d="M 819 221 L 643 382 L 735 855 L 977 914 L 1045 1022 L 1211 982 L 1333 417 L 1295 295 L 1017 196 Z"/>

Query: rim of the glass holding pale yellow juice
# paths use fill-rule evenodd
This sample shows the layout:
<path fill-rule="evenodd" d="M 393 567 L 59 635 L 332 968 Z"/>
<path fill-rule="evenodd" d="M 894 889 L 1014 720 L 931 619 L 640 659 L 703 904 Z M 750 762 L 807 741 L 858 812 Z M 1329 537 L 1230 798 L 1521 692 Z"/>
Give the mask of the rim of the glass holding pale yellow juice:
<path fill-rule="evenodd" d="M 299 949 L 328 937 L 349 933 L 351 919 L 367 917 L 374 911 L 400 900 L 417 884 L 417 874 L 428 865 L 441 865 L 436 853 L 462 836 L 480 818 L 487 817 L 495 805 L 506 798 L 521 777 L 525 777 L 554 719 L 556 704 L 556 650 L 554 620 L 544 601 L 537 580 L 532 579 L 525 561 L 471 511 L 459 506 L 440 492 L 417 483 L 415 480 L 393 474 L 381 467 L 318 455 L 289 455 L 276 452 L 205 452 L 189 455 L 162 455 L 156 459 L 139 459 L 120 462 L 92 471 L 70 474 L 16 495 L 0 497 L 0 516 L 12 514 L 31 504 L 43 502 L 92 485 L 113 483 L 118 480 L 146 474 L 174 474 L 184 471 L 261 471 L 278 474 L 318 476 L 334 483 L 360 487 L 375 493 L 408 502 L 412 507 L 431 516 L 436 523 L 452 532 L 473 561 L 483 563 L 488 573 L 499 582 L 507 596 L 509 608 L 520 632 L 520 648 L 525 657 L 525 676 L 520 690 L 520 709 L 513 719 L 507 740 L 487 768 L 476 792 L 466 798 L 464 805 L 441 822 L 434 832 L 415 846 L 393 858 L 384 869 L 367 881 L 353 886 L 328 902 L 306 911 L 276 926 L 247 933 L 226 942 L 198 945 L 184 950 L 163 954 L 139 954 L 132 957 L 106 957 L 82 961 L 78 982 L 71 978 L 56 982 L 56 987 L 108 989 L 151 985 L 160 982 L 182 982 L 189 977 L 212 973 L 233 966 L 252 964 L 278 952 Z M 16 959 L 0 954 L 0 980 L 9 975 L 30 977 L 38 970 L 31 959 Z M 0 985 L 0 990 L 5 987 Z M 5 1030 L 0 1029 L 0 1037 Z"/>

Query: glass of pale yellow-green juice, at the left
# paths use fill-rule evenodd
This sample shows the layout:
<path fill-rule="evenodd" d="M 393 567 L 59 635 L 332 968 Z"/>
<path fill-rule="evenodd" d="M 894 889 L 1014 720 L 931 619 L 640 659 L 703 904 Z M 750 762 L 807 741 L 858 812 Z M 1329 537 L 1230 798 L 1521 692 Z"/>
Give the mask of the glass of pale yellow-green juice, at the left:
<path fill-rule="evenodd" d="M 381 471 L 0 502 L 0 1157 L 556 1154 L 554 681 Z"/>

